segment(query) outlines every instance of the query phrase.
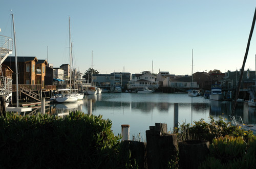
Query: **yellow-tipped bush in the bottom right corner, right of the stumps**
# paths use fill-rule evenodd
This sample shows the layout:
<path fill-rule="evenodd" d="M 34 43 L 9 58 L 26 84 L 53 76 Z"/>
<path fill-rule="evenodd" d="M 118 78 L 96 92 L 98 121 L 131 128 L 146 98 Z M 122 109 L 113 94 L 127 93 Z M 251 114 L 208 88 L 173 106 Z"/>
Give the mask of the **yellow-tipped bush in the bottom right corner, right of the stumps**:
<path fill-rule="evenodd" d="M 256 140 L 225 136 L 215 138 L 209 147 L 210 154 L 200 168 L 255 168 Z"/>

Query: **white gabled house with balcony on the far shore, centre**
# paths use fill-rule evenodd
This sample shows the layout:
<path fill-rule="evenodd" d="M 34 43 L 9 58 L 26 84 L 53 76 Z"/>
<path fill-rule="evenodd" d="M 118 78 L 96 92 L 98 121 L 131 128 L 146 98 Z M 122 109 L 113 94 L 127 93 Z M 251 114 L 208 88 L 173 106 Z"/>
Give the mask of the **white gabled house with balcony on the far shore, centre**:
<path fill-rule="evenodd" d="M 127 89 L 138 89 L 145 88 L 148 89 L 158 89 L 158 81 L 156 76 L 151 74 L 150 71 L 143 71 L 140 74 L 132 74 L 131 81 L 127 84 Z"/>

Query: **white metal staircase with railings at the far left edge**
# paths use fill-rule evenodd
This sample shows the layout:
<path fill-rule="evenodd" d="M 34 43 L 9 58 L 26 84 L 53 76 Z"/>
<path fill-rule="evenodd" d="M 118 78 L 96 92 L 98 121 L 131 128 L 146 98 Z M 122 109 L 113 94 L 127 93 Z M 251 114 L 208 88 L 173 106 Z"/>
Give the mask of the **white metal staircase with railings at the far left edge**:
<path fill-rule="evenodd" d="M 8 55 L 12 54 L 12 46 L 12 38 L 0 35 L 0 69 Z M 3 73 L 2 70 L 0 71 Z M 12 100 L 12 79 L 0 76 L 0 96 L 5 97 L 6 106 L 8 106 Z"/>

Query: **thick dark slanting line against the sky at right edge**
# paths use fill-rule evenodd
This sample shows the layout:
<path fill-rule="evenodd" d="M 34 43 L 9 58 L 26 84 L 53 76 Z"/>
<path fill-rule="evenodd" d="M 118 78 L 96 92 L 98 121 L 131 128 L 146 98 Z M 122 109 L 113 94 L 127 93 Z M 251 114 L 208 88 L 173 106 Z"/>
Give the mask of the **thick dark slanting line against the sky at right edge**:
<path fill-rule="evenodd" d="M 244 55 L 244 61 L 243 61 L 243 65 L 242 65 L 242 68 L 241 68 L 241 75 L 239 77 L 239 83 L 238 83 L 238 87 L 237 87 L 237 91 L 236 91 L 236 97 L 234 98 L 232 116 L 234 116 L 234 109 L 236 108 L 237 99 L 238 99 L 239 91 L 240 91 L 240 88 L 241 88 L 241 81 L 242 81 L 243 74 L 244 74 L 245 62 L 246 62 L 249 47 L 250 47 L 250 41 L 251 41 L 252 33 L 253 33 L 253 30 L 254 30 L 255 20 L 256 20 L 256 8 L 255 8 L 255 11 L 254 11 L 254 16 L 253 16 L 252 25 L 251 25 L 251 31 L 250 31 L 250 35 L 249 35 L 249 38 L 248 38 L 247 47 L 246 47 L 246 51 L 245 51 L 245 55 Z"/>

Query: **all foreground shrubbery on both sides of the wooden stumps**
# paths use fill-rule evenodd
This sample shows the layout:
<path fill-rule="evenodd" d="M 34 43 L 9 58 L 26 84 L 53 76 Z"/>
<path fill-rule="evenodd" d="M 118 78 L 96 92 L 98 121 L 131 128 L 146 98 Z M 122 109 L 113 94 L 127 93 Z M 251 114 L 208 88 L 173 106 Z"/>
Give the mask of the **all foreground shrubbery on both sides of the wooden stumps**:
<path fill-rule="evenodd" d="M 256 166 L 256 142 L 245 131 L 219 120 L 200 120 L 175 128 L 177 141 L 208 140 L 209 155 L 201 168 Z M 0 117 L 0 168 L 139 168 L 138 159 L 111 130 L 102 116 L 71 112 L 66 118 L 50 115 Z M 167 168 L 179 167 L 179 153 Z"/>

